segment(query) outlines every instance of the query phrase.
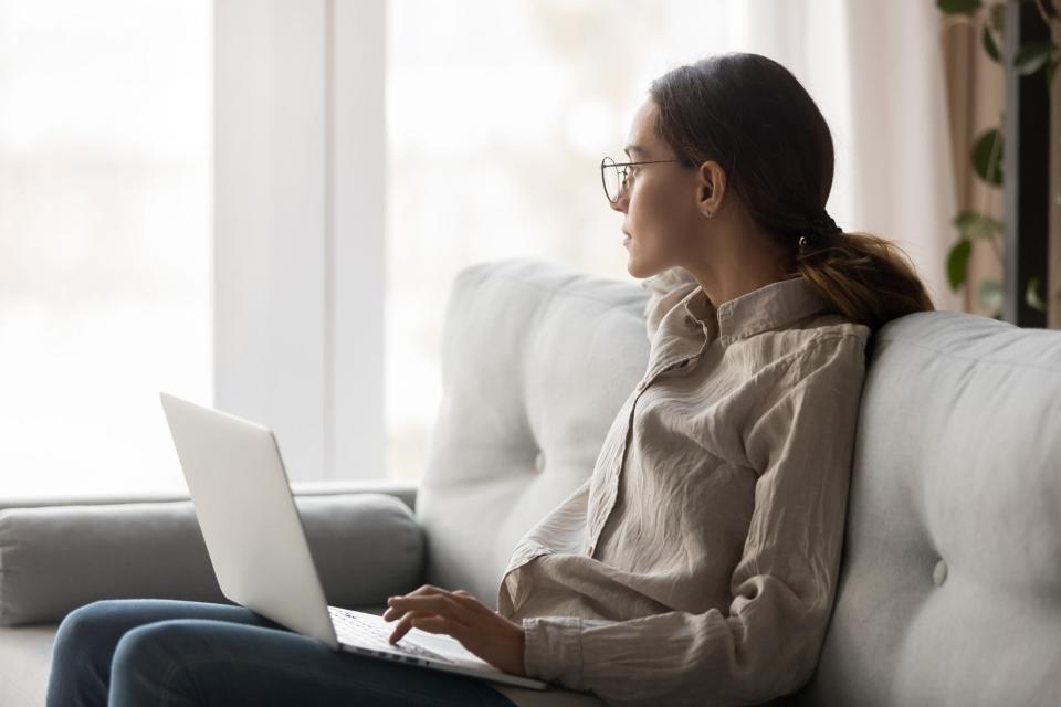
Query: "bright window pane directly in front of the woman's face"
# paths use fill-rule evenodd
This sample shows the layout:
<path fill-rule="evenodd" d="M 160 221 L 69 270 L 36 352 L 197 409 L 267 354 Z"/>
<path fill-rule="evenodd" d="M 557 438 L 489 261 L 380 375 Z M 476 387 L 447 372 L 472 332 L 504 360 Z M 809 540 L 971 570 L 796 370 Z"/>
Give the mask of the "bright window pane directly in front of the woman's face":
<path fill-rule="evenodd" d="M 600 158 L 652 78 L 736 49 L 712 2 L 429 0 L 387 6 L 387 468 L 417 477 L 441 401 L 445 296 L 516 256 L 630 279 Z"/>

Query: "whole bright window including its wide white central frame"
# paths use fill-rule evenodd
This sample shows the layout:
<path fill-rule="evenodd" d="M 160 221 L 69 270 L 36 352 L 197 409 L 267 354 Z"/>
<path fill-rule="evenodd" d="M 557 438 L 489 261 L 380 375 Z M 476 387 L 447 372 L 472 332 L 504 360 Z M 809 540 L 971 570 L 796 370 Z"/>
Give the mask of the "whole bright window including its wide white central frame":
<path fill-rule="evenodd" d="M 160 389 L 272 426 L 293 481 L 381 475 L 385 405 L 387 473 L 418 477 L 453 277 L 629 278 L 600 158 L 754 14 L 0 3 L 0 493 L 182 489 Z"/>

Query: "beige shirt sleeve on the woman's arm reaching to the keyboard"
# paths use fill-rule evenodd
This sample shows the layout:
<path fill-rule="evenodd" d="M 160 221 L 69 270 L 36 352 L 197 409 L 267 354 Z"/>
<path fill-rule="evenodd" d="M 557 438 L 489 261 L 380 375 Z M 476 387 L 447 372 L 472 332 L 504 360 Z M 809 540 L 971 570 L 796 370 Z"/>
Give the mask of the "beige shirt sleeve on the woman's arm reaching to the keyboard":
<path fill-rule="evenodd" d="M 727 611 L 524 619 L 525 668 L 610 705 L 750 705 L 813 674 L 847 517 L 864 340 L 821 337 L 745 433 L 758 481 Z"/>

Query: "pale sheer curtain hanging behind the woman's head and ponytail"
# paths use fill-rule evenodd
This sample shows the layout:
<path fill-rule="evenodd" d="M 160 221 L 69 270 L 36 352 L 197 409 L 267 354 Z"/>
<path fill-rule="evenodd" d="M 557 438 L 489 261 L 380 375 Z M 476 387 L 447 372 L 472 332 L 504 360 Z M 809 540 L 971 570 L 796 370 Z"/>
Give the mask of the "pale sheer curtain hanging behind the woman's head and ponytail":
<path fill-rule="evenodd" d="M 837 223 L 896 241 L 936 308 L 963 309 L 946 279 L 955 187 L 935 3 L 732 4 L 743 15 L 744 51 L 785 64 L 829 120 L 837 150 L 829 211 Z"/>

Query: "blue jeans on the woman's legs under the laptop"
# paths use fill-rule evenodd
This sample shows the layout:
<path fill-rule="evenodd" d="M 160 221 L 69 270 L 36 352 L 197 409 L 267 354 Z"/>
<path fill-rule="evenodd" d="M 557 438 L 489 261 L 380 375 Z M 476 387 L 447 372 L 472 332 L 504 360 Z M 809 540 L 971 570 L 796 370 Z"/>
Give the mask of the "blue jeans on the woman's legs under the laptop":
<path fill-rule="evenodd" d="M 52 650 L 48 707 L 513 707 L 490 683 L 333 651 L 242 606 L 97 601 Z"/>

